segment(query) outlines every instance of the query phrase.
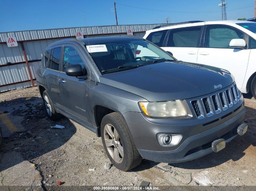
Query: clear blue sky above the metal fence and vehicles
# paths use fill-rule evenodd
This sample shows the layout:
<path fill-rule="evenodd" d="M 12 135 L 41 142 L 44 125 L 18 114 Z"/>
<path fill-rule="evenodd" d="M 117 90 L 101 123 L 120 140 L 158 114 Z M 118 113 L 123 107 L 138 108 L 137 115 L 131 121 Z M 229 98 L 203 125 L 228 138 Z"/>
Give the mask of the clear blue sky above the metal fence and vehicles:
<path fill-rule="evenodd" d="M 114 1 L 119 25 L 221 20 L 219 0 L 1 0 L 0 32 L 115 25 Z M 228 20 L 254 17 L 254 0 L 226 2 Z"/>

